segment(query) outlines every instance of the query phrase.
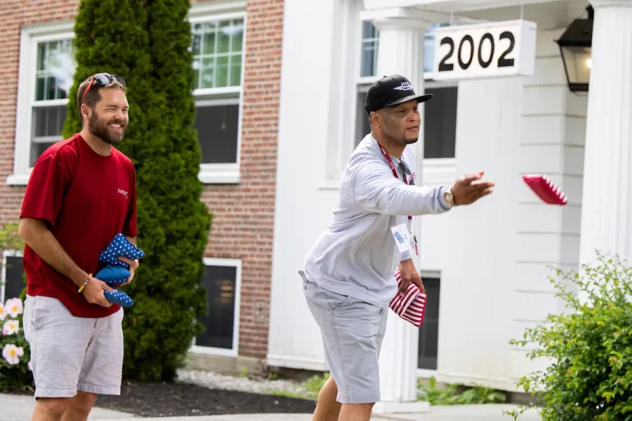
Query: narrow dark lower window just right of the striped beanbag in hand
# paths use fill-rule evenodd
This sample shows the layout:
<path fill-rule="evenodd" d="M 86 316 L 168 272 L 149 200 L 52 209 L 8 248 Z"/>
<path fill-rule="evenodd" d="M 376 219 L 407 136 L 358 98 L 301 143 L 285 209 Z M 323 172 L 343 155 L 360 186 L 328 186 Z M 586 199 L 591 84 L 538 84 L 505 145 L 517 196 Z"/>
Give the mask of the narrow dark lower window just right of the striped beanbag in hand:
<path fill-rule="evenodd" d="M 441 281 L 438 277 L 423 277 L 423 286 L 426 287 L 428 301 L 426 316 L 419 328 L 419 347 L 417 348 L 417 368 L 423 370 L 437 369 L 437 349 L 439 345 L 439 298 Z"/>

